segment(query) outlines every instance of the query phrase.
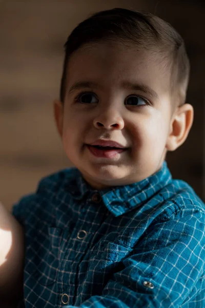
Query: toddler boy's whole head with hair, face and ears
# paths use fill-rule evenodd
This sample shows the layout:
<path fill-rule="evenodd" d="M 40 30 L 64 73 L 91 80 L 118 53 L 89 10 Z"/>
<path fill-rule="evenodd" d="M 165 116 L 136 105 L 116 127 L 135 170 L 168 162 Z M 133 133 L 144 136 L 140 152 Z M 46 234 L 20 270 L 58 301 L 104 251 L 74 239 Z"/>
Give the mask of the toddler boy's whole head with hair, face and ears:
<path fill-rule="evenodd" d="M 112 9 L 80 23 L 65 47 L 54 111 L 70 161 L 98 189 L 152 175 L 193 122 L 181 36 L 151 13 Z M 96 157 L 87 144 L 97 139 L 127 149 Z"/>

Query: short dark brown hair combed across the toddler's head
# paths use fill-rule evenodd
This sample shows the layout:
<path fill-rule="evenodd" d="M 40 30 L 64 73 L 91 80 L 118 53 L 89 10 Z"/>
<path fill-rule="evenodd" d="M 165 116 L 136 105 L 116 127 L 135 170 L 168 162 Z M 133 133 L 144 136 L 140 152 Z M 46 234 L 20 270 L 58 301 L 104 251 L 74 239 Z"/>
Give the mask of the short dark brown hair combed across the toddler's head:
<path fill-rule="evenodd" d="M 64 102 L 66 74 L 70 55 L 87 43 L 117 41 L 136 44 L 152 51 L 159 63 L 170 70 L 170 92 L 177 105 L 186 101 L 190 62 L 185 43 L 179 33 L 166 21 L 145 11 L 122 8 L 100 11 L 81 22 L 65 44 L 65 60 L 60 85 L 60 100 Z"/>

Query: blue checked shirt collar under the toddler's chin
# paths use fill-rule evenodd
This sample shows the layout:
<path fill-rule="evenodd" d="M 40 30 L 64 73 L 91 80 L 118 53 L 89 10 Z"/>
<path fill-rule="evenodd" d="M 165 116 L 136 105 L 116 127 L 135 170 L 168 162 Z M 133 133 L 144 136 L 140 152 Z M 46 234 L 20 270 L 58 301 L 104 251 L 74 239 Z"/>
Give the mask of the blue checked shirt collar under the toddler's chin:
<path fill-rule="evenodd" d="M 91 198 L 98 193 L 108 210 L 116 217 L 144 204 L 172 180 L 166 161 L 163 161 L 161 168 L 157 172 L 144 180 L 130 185 L 114 186 L 102 190 L 92 188 L 77 168 L 71 169 L 72 172 L 69 172 L 69 182 L 67 182 L 66 186 L 69 187 L 67 192 L 72 195 L 72 198 L 83 201 L 83 199 Z"/>

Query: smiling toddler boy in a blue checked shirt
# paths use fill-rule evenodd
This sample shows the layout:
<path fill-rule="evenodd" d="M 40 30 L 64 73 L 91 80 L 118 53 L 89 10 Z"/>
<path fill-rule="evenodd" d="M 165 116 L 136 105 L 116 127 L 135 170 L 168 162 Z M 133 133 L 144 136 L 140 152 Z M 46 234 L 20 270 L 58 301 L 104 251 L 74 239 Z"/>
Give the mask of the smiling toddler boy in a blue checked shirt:
<path fill-rule="evenodd" d="M 65 50 L 54 114 L 75 167 L 13 207 L 19 307 L 205 307 L 204 203 L 166 162 L 193 123 L 181 36 L 116 8 L 80 23 Z"/>

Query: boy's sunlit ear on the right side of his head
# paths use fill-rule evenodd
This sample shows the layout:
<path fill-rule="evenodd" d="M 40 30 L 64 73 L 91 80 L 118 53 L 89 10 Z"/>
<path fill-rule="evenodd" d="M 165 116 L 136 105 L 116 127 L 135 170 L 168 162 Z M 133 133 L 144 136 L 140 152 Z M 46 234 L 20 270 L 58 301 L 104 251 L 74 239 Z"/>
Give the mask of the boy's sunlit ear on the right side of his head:
<path fill-rule="evenodd" d="M 188 137 L 194 120 L 194 109 L 190 104 L 177 107 L 170 123 L 170 132 L 166 143 L 168 151 L 177 149 Z"/>

